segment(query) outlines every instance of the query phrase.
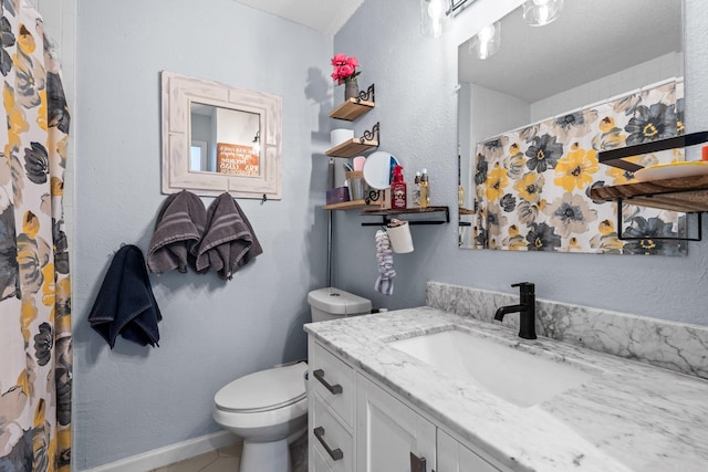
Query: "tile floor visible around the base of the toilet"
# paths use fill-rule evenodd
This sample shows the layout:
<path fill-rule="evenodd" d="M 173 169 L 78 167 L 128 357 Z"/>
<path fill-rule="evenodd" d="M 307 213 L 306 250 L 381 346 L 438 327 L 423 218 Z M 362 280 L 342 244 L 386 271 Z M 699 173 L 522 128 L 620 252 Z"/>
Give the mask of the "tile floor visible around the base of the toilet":
<path fill-rule="evenodd" d="M 150 472 L 237 472 L 241 460 L 242 443 L 218 449 Z M 303 436 L 290 445 L 293 472 L 308 471 L 308 437 Z"/>

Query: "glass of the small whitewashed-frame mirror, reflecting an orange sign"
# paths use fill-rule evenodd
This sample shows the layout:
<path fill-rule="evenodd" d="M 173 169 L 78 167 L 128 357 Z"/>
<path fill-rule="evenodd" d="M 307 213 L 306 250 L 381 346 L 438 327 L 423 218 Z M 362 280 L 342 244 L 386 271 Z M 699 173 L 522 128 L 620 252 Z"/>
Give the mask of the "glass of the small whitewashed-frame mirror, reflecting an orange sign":
<path fill-rule="evenodd" d="M 189 171 L 260 176 L 260 116 L 191 102 Z"/>

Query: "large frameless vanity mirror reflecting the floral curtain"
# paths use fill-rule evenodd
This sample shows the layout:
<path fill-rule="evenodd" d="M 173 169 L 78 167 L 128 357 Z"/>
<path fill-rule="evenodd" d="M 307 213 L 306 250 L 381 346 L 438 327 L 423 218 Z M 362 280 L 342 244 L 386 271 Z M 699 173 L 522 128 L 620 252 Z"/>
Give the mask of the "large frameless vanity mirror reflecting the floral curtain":
<path fill-rule="evenodd" d="M 684 132 L 683 39 L 681 0 L 565 0 L 549 24 L 520 6 L 460 44 L 459 247 L 685 254 L 684 214 L 629 207 L 617 228 L 590 199 L 633 179 L 598 151 Z"/>

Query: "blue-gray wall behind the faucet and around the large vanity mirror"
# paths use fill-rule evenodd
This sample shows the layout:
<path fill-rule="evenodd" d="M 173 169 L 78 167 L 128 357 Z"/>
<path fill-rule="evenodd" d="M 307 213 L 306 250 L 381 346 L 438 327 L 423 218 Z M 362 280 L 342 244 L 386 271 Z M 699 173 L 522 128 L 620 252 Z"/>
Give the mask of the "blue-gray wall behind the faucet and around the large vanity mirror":
<path fill-rule="evenodd" d="M 360 83 L 376 83 L 372 119 L 381 120 L 381 147 L 403 160 L 406 176 L 428 168 L 433 204 L 449 206 L 454 221 L 457 45 L 514 3 L 478 1 L 450 34 L 431 40 L 419 34 L 417 2 L 368 0 L 334 38 L 335 52 L 360 59 Z M 685 3 L 686 120 L 697 132 L 708 129 L 708 11 L 699 0 Z M 375 228 L 361 221 L 355 212 L 336 214 L 335 281 L 382 306 L 421 304 L 428 280 L 509 293 L 511 283 L 531 281 L 538 297 L 708 325 L 705 241 L 690 243 L 687 258 L 468 251 L 457 249 L 455 223 L 414 227 L 415 252 L 394 256 L 395 290 L 386 298 L 373 290 Z"/>

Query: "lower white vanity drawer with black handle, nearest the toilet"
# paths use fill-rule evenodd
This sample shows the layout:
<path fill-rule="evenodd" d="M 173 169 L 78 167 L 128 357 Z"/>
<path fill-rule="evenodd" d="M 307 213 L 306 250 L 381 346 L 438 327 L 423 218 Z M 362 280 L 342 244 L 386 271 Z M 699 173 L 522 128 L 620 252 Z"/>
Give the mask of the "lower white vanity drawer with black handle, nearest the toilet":
<path fill-rule="evenodd" d="M 314 403 L 310 427 L 310 447 L 314 455 L 324 460 L 333 472 L 351 472 L 354 470 L 354 441 L 352 434 L 332 415 L 319 395 L 314 395 L 310 405 Z M 317 469 L 319 470 L 319 469 Z"/>

